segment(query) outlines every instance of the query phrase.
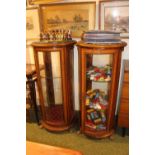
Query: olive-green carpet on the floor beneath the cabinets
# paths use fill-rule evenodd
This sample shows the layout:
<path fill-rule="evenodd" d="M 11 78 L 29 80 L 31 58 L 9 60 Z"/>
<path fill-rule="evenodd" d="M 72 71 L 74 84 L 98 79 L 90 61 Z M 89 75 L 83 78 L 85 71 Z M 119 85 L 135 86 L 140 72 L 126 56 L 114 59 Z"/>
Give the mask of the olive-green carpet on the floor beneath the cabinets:
<path fill-rule="evenodd" d="M 96 140 L 76 130 L 62 133 L 41 129 L 36 123 L 26 123 L 26 139 L 32 142 L 81 151 L 84 155 L 128 155 L 129 137 L 114 134 L 113 139 Z"/>

